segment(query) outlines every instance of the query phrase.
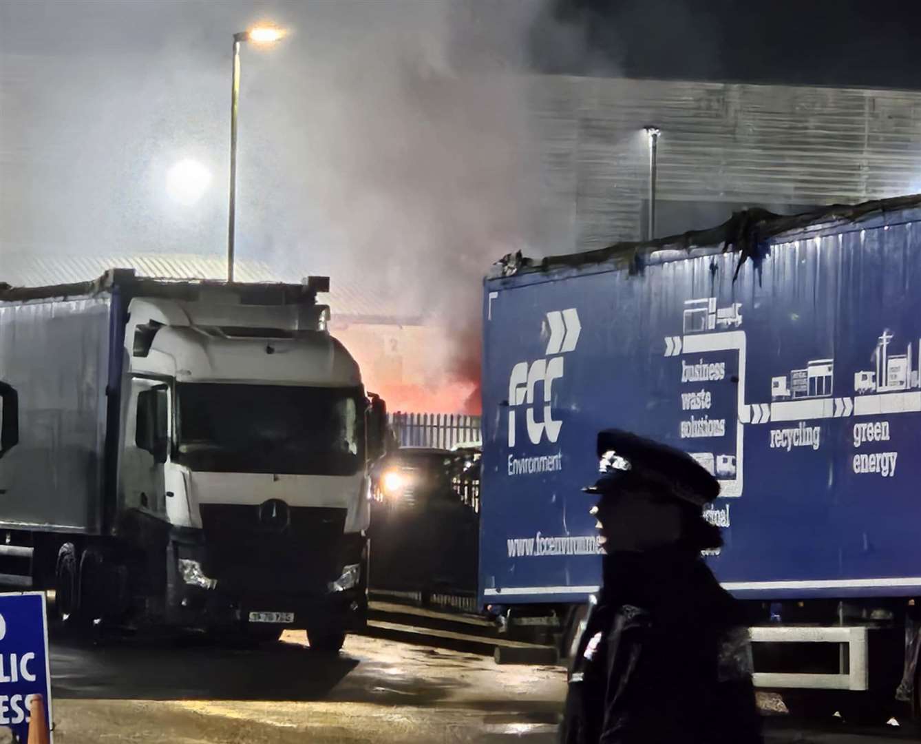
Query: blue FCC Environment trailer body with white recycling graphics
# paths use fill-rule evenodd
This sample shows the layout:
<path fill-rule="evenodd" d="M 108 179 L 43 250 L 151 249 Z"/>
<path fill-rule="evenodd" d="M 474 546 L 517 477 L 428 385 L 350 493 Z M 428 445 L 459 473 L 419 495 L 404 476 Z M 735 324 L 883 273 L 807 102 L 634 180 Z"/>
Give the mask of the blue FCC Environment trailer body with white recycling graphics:
<path fill-rule="evenodd" d="M 597 587 L 581 488 L 608 427 L 720 479 L 708 560 L 737 596 L 918 593 L 921 197 L 755 220 L 728 245 L 739 226 L 487 278 L 485 604 Z"/>

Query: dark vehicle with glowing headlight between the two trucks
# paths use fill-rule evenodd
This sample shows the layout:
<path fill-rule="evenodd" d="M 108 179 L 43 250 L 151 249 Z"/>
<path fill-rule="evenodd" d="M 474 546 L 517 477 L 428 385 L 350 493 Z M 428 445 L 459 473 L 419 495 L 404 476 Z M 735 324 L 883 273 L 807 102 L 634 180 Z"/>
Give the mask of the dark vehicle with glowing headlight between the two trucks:
<path fill-rule="evenodd" d="M 402 447 L 373 469 L 372 590 L 476 592 L 480 453 Z"/>

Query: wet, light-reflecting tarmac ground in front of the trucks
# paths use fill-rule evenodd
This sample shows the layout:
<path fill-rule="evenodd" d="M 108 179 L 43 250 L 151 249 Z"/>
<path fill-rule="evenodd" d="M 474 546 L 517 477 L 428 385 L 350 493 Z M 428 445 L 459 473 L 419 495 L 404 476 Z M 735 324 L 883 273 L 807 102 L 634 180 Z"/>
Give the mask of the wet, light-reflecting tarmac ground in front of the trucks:
<path fill-rule="evenodd" d="M 52 642 L 58 744 L 555 741 L 558 667 L 367 637 L 311 653 L 302 632 L 258 649 L 202 641 Z M 769 744 L 917 740 L 907 727 L 766 719 Z"/>

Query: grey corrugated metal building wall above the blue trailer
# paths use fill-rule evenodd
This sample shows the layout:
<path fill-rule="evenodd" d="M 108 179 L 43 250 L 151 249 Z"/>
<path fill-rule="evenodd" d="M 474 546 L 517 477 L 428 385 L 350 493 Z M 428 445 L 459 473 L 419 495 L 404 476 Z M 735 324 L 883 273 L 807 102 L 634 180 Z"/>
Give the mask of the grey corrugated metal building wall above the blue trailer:
<path fill-rule="evenodd" d="M 640 237 L 647 124 L 662 131 L 666 206 L 809 206 L 921 191 L 917 92 L 539 77 L 529 96 L 549 173 L 544 199 L 557 225 L 572 226 L 560 236 L 571 243 L 554 252 Z"/>

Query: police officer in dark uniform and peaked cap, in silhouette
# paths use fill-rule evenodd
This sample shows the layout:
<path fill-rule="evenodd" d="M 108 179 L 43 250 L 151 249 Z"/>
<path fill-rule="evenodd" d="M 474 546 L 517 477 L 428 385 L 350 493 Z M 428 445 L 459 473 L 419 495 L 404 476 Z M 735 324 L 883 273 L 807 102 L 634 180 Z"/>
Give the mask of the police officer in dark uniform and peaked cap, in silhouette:
<path fill-rule="evenodd" d="M 570 672 L 564 744 L 755 744 L 760 716 L 740 603 L 701 557 L 717 479 L 685 453 L 601 431 L 602 586 Z"/>

